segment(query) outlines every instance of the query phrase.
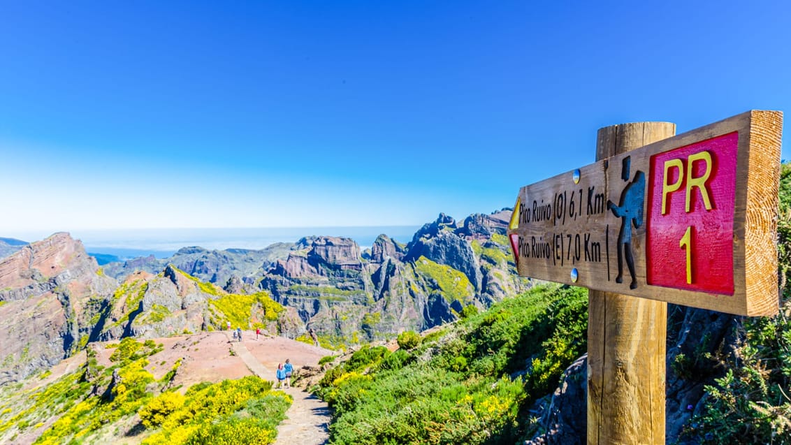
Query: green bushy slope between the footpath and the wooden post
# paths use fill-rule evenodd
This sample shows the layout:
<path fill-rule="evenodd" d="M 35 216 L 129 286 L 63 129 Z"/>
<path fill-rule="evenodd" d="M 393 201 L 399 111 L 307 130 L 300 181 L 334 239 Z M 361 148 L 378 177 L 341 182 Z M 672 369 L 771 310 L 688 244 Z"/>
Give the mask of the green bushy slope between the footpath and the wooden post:
<path fill-rule="evenodd" d="M 335 409 L 332 442 L 515 443 L 530 436 L 528 407 L 585 352 L 587 303 L 583 289 L 535 288 L 411 351 L 363 347 L 316 387 Z"/>

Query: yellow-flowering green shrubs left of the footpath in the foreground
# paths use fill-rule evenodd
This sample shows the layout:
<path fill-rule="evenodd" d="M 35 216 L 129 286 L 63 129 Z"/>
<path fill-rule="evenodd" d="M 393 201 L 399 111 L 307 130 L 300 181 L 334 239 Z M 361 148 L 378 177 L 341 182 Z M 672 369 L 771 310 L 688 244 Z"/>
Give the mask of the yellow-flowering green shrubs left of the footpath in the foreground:
<path fill-rule="evenodd" d="M 13 414 L 8 405 L 0 405 L 0 441 L 30 428 L 44 428 L 56 418 L 35 443 L 103 443 L 108 434 L 117 435 L 117 421 L 134 426 L 129 422 L 136 413 L 141 424 L 134 429 L 142 443 L 274 441 L 275 427 L 292 402 L 289 395 L 271 391 L 271 383 L 255 376 L 200 383 L 184 395 L 172 390 L 160 393 L 160 387 L 172 382 L 181 362 L 176 360 L 155 382 L 146 366 L 148 358 L 159 351 L 161 345 L 153 341 L 124 338 L 116 345 L 113 365 L 108 368 L 98 366 L 89 354 L 81 371 L 45 387 L 2 388 L 2 400 L 9 401 L 13 394 L 14 403 L 24 401 L 25 409 Z"/>

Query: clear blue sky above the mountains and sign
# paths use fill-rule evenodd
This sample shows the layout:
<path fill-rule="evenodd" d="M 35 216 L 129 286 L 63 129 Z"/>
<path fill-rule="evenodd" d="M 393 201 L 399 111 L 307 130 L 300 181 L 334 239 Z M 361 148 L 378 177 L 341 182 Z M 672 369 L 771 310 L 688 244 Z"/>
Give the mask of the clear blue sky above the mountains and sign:
<path fill-rule="evenodd" d="M 0 2 L 0 236 L 418 225 L 791 104 L 788 2 Z M 784 159 L 789 158 L 783 149 Z"/>

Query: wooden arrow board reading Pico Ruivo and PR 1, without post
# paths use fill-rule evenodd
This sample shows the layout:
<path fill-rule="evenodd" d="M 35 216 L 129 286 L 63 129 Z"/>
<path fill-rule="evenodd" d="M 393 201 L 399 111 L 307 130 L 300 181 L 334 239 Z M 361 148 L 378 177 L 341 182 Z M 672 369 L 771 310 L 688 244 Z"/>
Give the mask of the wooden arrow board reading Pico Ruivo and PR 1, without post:
<path fill-rule="evenodd" d="M 748 111 L 522 187 L 520 275 L 737 315 L 778 311 L 782 113 Z"/>

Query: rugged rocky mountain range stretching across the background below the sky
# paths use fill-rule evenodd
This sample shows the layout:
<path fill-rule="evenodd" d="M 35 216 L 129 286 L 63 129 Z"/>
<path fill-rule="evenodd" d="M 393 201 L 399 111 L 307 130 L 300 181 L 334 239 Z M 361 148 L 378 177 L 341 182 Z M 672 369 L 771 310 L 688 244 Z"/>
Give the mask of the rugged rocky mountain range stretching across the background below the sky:
<path fill-rule="evenodd" d="M 379 236 L 312 236 L 263 250 L 184 247 L 99 266 L 79 240 L 56 233 L 5 241 L 0 259 L 0 385 L 49 368 L 91 341 L 233 326 L 262 327 L 335 348 L 393 338 L 488 307 L 531 283 L 515 273 L 510 210 L 440 214 L 407 244 Z"/>

